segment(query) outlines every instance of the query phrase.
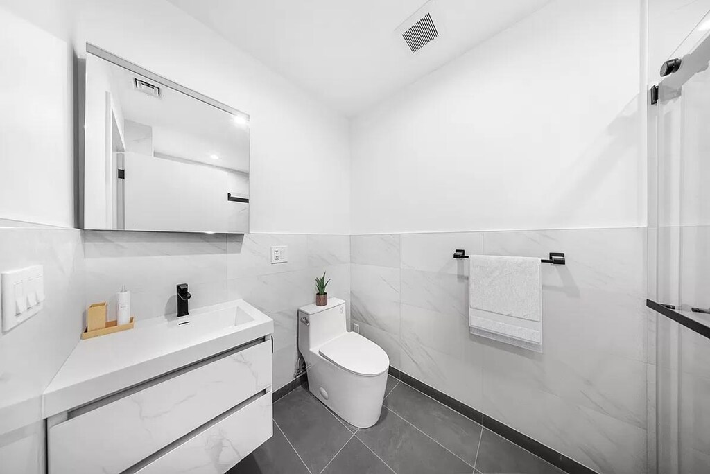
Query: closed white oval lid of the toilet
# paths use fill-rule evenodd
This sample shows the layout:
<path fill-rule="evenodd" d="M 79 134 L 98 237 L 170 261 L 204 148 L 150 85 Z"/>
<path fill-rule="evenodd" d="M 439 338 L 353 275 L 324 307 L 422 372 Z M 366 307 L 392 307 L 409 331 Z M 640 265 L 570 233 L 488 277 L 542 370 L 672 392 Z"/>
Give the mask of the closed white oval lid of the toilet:
<path fill-rule="evenodd" d="M 332 363 L 359 375 L 380 375 L 390 365 L 390 358 L 380 346 L 357 333 L 334 338 L 320 346 L 318 352 Z"/>

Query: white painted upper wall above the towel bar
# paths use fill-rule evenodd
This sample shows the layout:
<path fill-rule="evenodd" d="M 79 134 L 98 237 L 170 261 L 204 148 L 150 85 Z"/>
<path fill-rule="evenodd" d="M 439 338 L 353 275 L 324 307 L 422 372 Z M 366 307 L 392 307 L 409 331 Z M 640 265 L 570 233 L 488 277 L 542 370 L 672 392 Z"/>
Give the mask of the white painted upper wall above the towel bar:
<path fill-rule="evenodd" d="M 645 224 L 640 6 L 554 1 L 358 116 L 352 231 Z"/>

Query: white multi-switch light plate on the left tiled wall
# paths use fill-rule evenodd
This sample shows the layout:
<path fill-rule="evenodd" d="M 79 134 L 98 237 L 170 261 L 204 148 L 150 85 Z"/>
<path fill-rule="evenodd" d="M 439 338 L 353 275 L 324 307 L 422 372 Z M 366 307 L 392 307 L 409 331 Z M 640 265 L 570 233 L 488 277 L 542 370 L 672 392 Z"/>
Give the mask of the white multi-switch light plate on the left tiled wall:
<path fill-rule="evenodd" d="M 7 332 L 40 312 L 45 299 L 42 265 L 1 274 L 2 331 Z"/>

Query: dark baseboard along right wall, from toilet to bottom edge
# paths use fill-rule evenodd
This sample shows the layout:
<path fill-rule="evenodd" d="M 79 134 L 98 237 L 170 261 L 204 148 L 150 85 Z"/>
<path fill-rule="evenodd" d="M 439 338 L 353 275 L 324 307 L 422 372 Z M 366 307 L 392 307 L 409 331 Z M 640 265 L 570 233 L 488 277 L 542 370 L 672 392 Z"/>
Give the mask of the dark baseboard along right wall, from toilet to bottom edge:
<path fill-rule="evenodd" d="M 489 417 L 479 410 L 469 407 L 468 405 L 459 402 L 457 399 L 449 397 L 445 393 L 439 392 L 439 390 L 431 387 L 430 385 L 415 379 L 411 375 L 403 373 L 401 370 L 390 367 L 390 375 L 405 382 L 405 384 L 414 387 L 420 392 L 429 395 L 437 402 L 446 405 L 454 412 L 459 412 L 464 415 L 464 417 L 476 421 L 476 423 L 481 424 L 484 428 L 487 428 L 493 433 L 503 436 L 503 438 L 508 439 L 521 448 L 530 451 L 530 453 L 535 454 L 538 458 L 542 458 L 548 463 L 554 465 L 555 467 L 564 470 L 564 472 L 569 474 L 597 474 L 596 471 L 587 468 L 585 465 L 574 461 L 574 459 L 564 456 L 564 454 L 555 451 L 549 446 L 540 443 L 535 439 L 530 438 L 530 436 L 520 433 L 520 431 L 511 428 L 510 426 L 501 423 L 494 418 Z"/>

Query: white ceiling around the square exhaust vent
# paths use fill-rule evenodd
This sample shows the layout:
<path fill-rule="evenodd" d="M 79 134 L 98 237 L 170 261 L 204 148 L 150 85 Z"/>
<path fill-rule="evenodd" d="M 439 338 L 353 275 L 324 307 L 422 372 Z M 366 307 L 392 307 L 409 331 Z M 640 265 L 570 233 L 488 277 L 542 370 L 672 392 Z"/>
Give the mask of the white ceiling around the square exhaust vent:
<path fill-rule="evenodd" d="M 550 0 L 170 1 L 350 116 Z M 439 38 L 412 54 L 398 27 L 427 11 Z"/>

